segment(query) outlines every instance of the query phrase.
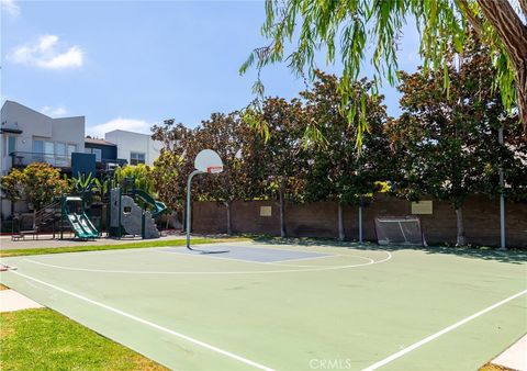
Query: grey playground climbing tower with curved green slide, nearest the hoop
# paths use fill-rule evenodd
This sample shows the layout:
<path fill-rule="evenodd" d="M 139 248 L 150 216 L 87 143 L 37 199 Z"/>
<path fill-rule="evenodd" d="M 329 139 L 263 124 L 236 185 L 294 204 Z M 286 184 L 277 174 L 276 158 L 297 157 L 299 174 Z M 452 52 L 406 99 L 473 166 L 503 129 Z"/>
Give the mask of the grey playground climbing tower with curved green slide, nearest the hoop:
<path fill-rule="evenodd" d="M 142 238 L 158 238 L 155 217 L 167 210 L 165 203 L 156 201 L 147 192 L 135 188 L 135 178 L 125 178 L 124 188 L 110 190 L 106 209 L 109 237 L 121 238 L 125 235 Z"/>

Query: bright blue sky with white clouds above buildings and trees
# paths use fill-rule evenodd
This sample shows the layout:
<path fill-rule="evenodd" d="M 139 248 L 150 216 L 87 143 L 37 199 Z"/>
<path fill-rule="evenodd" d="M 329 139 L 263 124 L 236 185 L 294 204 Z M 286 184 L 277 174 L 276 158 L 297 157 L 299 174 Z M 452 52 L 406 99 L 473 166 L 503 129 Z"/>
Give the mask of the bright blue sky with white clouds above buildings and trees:
<path fill-rule="evenodd" d="M 85 115 L 87 134 L 102 136 L 148 133 L 170 117 L 193 127 L 253 99 L 255 71 L 239 76 L 238 68 L 266 44 L 261 1 L 0 1 L 2 103 Z M 400 68 L 412 71 L 418 36 L 414 26 L 404 34 Z M 339 71 L 338 64 L 321 68 Z M 269 95 L 290 99 L 304 89 L 283 65 L 262 77 Z M 389 113 L 399 115 L 395 89 L 383 92 Z"/>

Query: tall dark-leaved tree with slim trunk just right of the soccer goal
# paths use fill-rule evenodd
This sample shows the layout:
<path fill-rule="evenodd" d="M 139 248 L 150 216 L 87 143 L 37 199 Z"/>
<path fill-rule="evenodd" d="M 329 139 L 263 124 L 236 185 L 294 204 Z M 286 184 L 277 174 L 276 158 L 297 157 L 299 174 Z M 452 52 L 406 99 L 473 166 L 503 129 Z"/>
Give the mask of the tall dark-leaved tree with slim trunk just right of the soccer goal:
<path fill-rule="evenodd" d="M 402 72 L 403 114 L 388 128 L 392 142 L 396 192 L 410 200 L 430 194 L 448 201 L 456 211 L 457 245 L 467 244 L 463 204 L 473 193 L 497 189 L 498 168 L 517 172 L 526 154 L 517 146 L 501 146 L 500 126 L 514 127 L 500 92 L 492 89 L 494 74 L 490 50 L 471 38 L 461 66 L 447 50 L 449 93 L 442 89 L 445 72 Z M 517 125 L 517 124 L 516 124 Z M 525 149 L 525 147 L 524 147 Z M 505 159 L 507 159 L 505 161 Z"/>

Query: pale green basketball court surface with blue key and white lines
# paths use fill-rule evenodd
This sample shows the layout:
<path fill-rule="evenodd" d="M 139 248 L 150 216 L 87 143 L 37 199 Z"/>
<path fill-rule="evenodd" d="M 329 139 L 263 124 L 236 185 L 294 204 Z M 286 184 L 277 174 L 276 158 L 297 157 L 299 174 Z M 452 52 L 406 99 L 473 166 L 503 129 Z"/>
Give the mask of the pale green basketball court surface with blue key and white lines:
<path fill-rule="evenodd" d="M 229 243 L 4 258 L 0 281 L 178 370 L 476 370 L 527 331 L 520 252 Z"/>

